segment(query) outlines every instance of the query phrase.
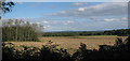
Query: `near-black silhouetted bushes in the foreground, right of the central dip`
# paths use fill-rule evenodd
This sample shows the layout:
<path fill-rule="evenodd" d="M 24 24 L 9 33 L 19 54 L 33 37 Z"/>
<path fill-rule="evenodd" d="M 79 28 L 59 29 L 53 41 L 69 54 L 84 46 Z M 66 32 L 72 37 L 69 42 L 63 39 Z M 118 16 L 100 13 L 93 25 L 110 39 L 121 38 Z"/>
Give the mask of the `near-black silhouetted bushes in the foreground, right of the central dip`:
<path fill-rule="evenodd" d="M 130 36 L 129 36 L 130 37 Z M 128 39 L 129 39 L 128 37 Z M 128 60 L 130 59 L 130 40 L 122 41 L 117 39 L 114 46 L 100 45 L 100 49 L 88 50 L 86 44 L 81 44 L 73 58 L 76 61 L 95 60 Z"/>

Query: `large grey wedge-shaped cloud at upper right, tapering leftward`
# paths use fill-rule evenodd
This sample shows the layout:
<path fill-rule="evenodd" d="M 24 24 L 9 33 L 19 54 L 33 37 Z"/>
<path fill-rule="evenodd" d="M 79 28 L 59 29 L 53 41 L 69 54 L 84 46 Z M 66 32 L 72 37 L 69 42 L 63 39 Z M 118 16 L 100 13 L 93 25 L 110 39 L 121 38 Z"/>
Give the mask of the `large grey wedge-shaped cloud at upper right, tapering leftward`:
<path fill-rule="evenodd" d="M 74 16 L 74 17 L 89 17 L 89 16 L 120 16 L 127 15 L 127 3 L 103 3 L 93 6 L 79 7 L 77 10 L 61 11 L 51 16 Z"/>

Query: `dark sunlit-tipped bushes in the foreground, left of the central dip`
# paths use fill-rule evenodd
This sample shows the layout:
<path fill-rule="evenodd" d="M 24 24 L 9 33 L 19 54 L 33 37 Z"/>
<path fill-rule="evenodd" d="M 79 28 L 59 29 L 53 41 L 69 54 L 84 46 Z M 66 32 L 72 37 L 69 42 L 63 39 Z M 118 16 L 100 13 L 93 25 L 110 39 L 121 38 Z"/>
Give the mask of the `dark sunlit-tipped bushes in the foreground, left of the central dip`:
<path fill-rule="evenodd" d="M 43 45 L 42 48 L 21 45 L 21 51 L 15 49 L 12 43 L 2 43 L 3 60 L 30 60 L 30 61 L 74 61 L 66 49 L 57 49 L 56 44 Z M 6 59 L 8 58 L 8 59 Z"/>

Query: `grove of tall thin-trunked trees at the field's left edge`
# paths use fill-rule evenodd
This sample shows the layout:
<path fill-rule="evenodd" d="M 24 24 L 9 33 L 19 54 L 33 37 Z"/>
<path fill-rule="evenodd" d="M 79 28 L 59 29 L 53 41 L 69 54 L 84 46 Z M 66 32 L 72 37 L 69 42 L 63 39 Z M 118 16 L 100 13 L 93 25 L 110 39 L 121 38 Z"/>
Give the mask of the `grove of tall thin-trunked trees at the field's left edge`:
<path fill-rule="evenodd" d="M 39 32 L 43 26 L 23 21 L 22 19 L 9 19 L 2 21 L 2 41 L 39 41 Z"/>

